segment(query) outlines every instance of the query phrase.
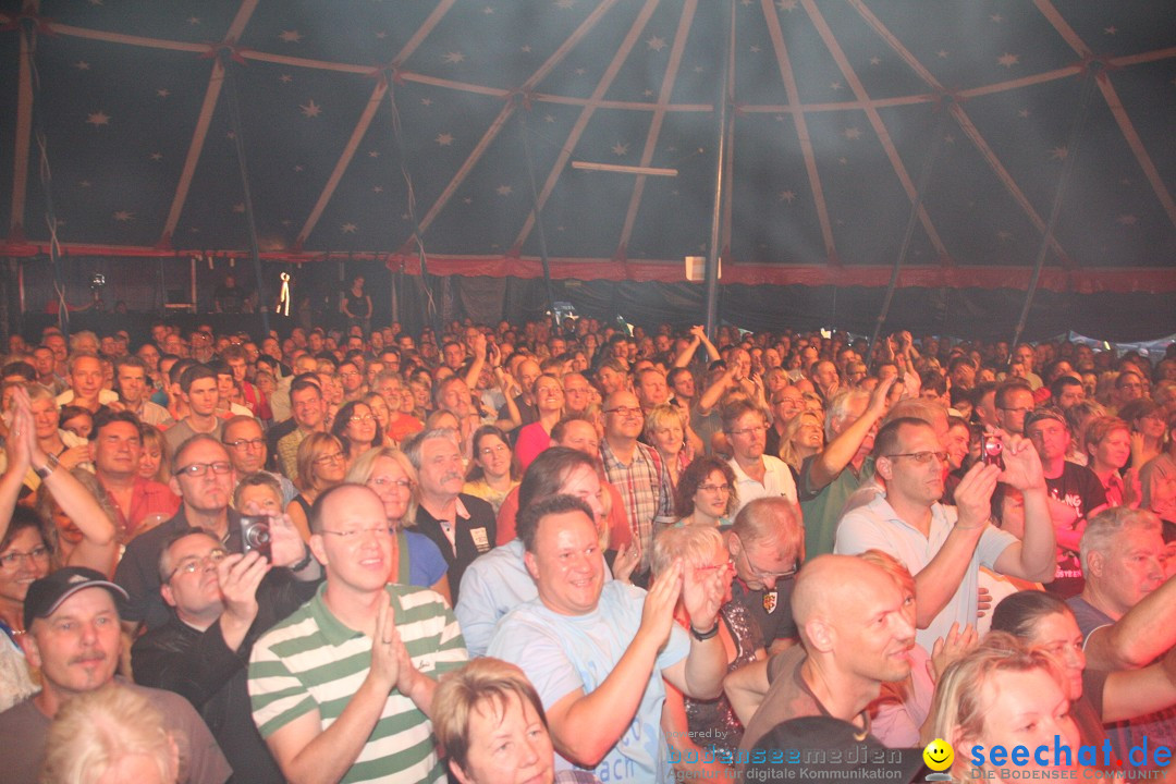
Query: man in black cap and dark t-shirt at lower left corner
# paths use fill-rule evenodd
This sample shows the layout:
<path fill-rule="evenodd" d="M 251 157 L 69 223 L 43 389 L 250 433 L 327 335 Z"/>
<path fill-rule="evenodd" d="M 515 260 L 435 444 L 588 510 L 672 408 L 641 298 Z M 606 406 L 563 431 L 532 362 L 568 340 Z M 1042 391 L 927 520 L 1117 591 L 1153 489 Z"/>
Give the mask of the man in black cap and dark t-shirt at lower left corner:
<path fill-rule="evenodd" d="M 78 695 L 103 688 L 132 689 L 163 715 L 163 728 L 186 750 L 193 784 L 223 784 L 233 770 L 196 711 L 169 691 L 115 681 L 122 635 L 116 601 L 126 592 L 101 572 L 67 567 L 28 587 L 20 645 L 41 674 L 41 690 L 0 713 L 4 780 L 35 784 L 45 760 L 49 723 Z M 116 685 L 112 685 L 112 683 Z"/>

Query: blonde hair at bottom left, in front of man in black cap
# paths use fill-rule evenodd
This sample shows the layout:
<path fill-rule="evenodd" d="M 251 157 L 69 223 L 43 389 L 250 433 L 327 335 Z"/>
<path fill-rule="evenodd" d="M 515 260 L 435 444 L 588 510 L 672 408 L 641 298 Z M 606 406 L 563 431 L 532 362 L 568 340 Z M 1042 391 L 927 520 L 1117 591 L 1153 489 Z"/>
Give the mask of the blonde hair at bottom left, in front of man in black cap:
<path fill-rule="evenodd" d="M 94 784 L 127 757 L 146 757 L 159 780 L 180 779 L 186 739 L 165 729 L 163 713 L 140 692 L 112 683 L 78 695 L 58 711 L 45 744 L 42 784 Z"/>

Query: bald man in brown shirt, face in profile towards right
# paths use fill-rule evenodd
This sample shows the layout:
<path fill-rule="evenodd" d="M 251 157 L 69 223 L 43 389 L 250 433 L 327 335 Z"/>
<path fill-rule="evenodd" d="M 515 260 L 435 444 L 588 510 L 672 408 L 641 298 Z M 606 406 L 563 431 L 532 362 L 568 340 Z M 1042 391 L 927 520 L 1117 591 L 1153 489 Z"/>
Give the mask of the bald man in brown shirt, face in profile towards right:
<path fill-rule="evenodd" d="M 741 668 L 723 683 L 747 726 L 741 751 L 781 722 L 831 716 L 869 730 L 866 708 L 883 683 L 910 675 L 915 626 L 903 594 L 880 567 L 823 555 L 796 578 L 793 616 L 801 644 Z"/>

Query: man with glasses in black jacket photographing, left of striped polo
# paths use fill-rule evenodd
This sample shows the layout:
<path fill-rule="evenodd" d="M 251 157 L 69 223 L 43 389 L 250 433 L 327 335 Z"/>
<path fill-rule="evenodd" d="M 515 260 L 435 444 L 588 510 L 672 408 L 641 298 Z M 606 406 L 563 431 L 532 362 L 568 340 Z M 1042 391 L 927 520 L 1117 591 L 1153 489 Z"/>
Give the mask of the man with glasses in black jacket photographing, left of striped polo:
<path fill-rule="evenodd" d="M 270 530 L 272 565 L 256 552 L 230 555 L 200 528 L 172 534 L 159 558 L 160 594 L 172 617 L 131 649 L 135 683 L 186 697 L 208 724 L 236 780 L 258 784 L 283 779 L 253 723 L 246 662 L 258 637 L 318 588 L 281 568 L 305 556 L 298 531 L 282 518 L 273 518 Z"/>

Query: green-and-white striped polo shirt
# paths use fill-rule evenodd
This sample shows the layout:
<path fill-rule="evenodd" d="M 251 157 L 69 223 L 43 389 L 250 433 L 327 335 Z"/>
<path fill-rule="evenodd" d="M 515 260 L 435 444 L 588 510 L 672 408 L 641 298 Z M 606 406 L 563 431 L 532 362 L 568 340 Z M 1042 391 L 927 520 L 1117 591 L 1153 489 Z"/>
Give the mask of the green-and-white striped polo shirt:
<path fill-rule="evenodd" d="M 270 735 L 303 713 L 319 711 L 322 728 L 339 718 L 372 666 L 372 639 L 345 626 L 322 601 L 326 584 L 258 641 L 249 659 L 253 721 Z M 468 658 L 466 643 L 445 599 L 412 585 L 388 585 L 396 630 L 421 674 L 437 678 Z M 445 769 L 434 749 L 433 725 L 395 689 L 343 782 L 434 782 Z"/>

